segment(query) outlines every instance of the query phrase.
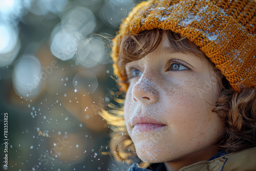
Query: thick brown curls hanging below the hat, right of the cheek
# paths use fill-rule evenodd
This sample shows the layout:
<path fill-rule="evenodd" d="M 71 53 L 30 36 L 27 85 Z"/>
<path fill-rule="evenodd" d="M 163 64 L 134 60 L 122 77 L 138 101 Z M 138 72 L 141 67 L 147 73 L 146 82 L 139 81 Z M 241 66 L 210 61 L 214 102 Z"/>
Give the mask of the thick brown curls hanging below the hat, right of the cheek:
<path fill-rule="evenodd" d="M 227 153 L 256 145 L 256 90 L 244 86 L 240 90 L 222 91 L 212 110 L 224 121 L 226 130 L 216 147 Z"/>

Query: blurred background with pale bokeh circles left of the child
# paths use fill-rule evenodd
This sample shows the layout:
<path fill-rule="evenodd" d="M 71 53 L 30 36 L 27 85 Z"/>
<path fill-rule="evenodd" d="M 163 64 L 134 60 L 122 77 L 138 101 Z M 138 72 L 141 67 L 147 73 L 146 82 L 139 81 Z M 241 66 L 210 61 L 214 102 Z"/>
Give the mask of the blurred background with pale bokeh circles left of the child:
<path fill-rule="evenodd" d="M 1 167 L 126 170 L 97 114 L 118 92 L 111 40 L 137 0 L 0 0 Z M 104 155 L 105 154 L 105 155 Z"/>

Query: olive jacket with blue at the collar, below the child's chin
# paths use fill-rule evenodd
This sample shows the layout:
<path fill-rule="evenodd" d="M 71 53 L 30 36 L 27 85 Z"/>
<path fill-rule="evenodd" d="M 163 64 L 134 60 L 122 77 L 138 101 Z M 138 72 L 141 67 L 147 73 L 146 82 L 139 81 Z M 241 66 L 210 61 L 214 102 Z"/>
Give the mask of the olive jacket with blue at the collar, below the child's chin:
<path fill-rule="evenodd" d="M 154 170 L 166 170 L 163 166 Z M 210 161 L 200 161 L 185 167 L 179 171 L 252 171 L 256 170 L 256 147 L 247 148 L 239 152 L 230 153 L 218 157 Z M 127 171 L 150 171 L 150 169 L 141 168 L 137 163 L 134 163 Z"/>

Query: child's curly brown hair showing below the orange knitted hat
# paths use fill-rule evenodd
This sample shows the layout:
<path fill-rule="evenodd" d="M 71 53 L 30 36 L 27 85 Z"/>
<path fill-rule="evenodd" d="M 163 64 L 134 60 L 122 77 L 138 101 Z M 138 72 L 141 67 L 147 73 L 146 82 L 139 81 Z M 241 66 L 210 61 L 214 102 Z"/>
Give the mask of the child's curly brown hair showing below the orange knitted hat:
<path fill-rule="evenodd" d="M 166 34 L 163 34 L 166 33 Z M 125 74 L 125 64 L 138 60 L 148 53 L 153 52 L 164 36 L 168 38 L 170 47 L 177 52 L 193 53 L 198 57 L 206 57 L 205 54 L 186 37 L 172 31 L 160 29 L 143 31 L 142 33 L 127 34 L 119 40 L 118 66 Z M 212 62 L 210 62 L 212 64 Z M 216 101 L 215 112 L 219 119 L 225 124 L 226 133 L 216 141 L 215 147 L 218 151 L 226 153 L 237 152 L 245 148 L 256 146 L 256 91 L 253 88 L 246 88 L 240 85 L 239 92 L 233 92 L 228 81 L 221 72 L 212 64 L 219 76 L 220 94 Z M 125 81 L 124 81 L 125 82 Z M 124 100 L 116 99 L 120 103 L 115 110 L 108 112 L 102 110 L 99 114 L 112 125 L 110 148 L 113 157 L 117 161 L 131 163 L 131 157 L 136 156 L 135 147 L 129 134 L 126 131 L 123 117 Z M 121 106 L 121 107 L 120 107 Z M 141 167 L 147 167 L 148 163 L 141 163 Z"/>

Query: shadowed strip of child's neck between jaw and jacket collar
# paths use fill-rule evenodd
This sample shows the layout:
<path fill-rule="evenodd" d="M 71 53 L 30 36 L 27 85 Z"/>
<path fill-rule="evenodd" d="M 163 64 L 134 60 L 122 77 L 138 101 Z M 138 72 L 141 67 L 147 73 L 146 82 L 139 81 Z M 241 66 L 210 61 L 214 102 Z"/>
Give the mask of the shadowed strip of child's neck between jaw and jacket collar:
<path fill-rule="evenodd" d="M 212 156 L 218 154 L 216 149 L 201 149 L 199 152 L 194 152 L 179 159 L 164 162 L 167 171 L 178 171 L 182 167 L 188 166 L 190 164 L 197 163 L 199 161 L 204 161 L 210 159 Z"/>

